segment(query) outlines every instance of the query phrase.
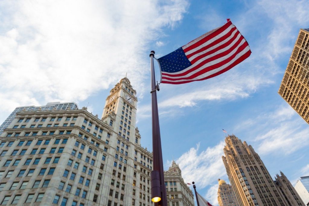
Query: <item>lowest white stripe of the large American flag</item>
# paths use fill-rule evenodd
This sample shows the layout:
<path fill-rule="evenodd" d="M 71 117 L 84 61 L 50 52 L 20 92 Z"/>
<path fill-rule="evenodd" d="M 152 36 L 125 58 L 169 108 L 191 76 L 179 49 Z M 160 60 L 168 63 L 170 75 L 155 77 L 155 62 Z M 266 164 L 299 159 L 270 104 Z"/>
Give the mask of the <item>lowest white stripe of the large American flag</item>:
<path fill-rule="evenodd" d="M 246 48 L 243 49 L 243 51 L 239 52 L 231 61 L 229 61 L 228 63 L 226 63 L 225 65 L 222 65 L 221 67 L 217 68 L 217 69 L 213 69 L 211 71 L 205 72 L 193 79 L 181 79 L 181 80 L 169 80 L 169 79 L 162 79 L 162 81 L 164 82 L 185 82 L 185 81 L 196 81 L 205 77 L 208 77 L 212 74 L 215 74 L 219 71 L 221 71 L 222 69 L 225 69 L 226 67 L 228 67 L 229 65 L 231 65 L 233 62 L 235 62 L 237 59 L 239 59 L 239 57 L 243 56 L 245 53 L 247 53 L 250 50 L 249 46 L 247 46 Z M 180 77 L 178 77 L 180 78 Z"/>

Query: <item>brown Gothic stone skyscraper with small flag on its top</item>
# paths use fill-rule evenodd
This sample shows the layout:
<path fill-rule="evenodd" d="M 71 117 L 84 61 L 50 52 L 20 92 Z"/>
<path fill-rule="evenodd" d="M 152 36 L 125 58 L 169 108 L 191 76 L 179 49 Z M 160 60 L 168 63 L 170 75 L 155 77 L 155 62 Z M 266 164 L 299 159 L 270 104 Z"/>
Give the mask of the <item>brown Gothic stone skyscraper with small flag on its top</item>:
<path fill-rule="evenodd" d="M 251 145 L 234 135 L 225 143 L 222 159 L 239 205 L 304 205 L 283 173 L 273 181 Z"/>

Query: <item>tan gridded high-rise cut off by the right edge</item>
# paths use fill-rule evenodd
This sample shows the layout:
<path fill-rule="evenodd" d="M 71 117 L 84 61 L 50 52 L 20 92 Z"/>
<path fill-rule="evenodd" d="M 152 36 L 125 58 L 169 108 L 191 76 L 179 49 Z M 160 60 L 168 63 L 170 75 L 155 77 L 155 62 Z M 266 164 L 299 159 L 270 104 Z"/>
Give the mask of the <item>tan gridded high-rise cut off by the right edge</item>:
<path fill-rule="evenodd" d="M 300 29 L 279 95 L 309 123 L 309 29 Z"/>

